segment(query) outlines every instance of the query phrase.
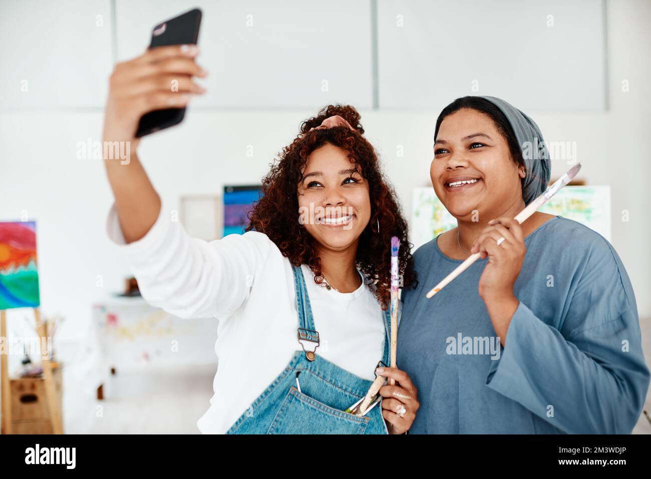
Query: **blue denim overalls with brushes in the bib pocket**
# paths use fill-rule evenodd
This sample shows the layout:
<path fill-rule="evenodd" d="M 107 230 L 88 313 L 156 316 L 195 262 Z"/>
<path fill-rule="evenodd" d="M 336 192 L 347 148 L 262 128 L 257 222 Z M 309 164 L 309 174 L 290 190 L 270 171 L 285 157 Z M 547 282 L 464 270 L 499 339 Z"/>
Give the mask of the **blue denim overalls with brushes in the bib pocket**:
<path fill-rule="evenodd" d="M 318 332 L 307 295 L 301 267 L 292 267 L 298 337 L 318 346 Z M 390 312 L 384 314 L 384 353 L 382 362 L 389 364 L 391 344 Z M 375 405 L 366 416 L 344 411 L 363 398 L 373 381 L 363 379 L 314 354 L 314 349 L 296 350 L 294 356 L 258 396 L 227 434 L 387 434 L 382 404 Z M 312 360 L 311 360 L 312 359 Z M 296 387 L 296 378 L 301 392 Z"/>

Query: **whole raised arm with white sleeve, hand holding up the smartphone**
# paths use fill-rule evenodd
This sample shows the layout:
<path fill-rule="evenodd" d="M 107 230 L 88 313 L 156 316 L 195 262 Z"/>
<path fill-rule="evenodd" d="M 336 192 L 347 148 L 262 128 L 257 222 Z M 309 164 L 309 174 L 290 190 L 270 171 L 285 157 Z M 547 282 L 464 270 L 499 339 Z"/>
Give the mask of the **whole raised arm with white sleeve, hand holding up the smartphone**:
<path fill-rule="evenodd" d="M 104 148 L 115 195 L 108 229 L 150 304 L 182 318 L 224 318 L 248 297 L 270 240 L 257 232 L 210 243 L 190 238 L 161 206 L 135 153 L 135 131 L 144 113 L 184 106 L 191 94 L 203 91 L 192 81 L 193 75 L 205 75 L 195 63 L 196 55 L 193 46 L 160 47 L 115 67 L 104 144 L 127 142 L 129 149 L 122 151 L 129 151 L 130 157 L 112 157 L 115 148 Z"/>

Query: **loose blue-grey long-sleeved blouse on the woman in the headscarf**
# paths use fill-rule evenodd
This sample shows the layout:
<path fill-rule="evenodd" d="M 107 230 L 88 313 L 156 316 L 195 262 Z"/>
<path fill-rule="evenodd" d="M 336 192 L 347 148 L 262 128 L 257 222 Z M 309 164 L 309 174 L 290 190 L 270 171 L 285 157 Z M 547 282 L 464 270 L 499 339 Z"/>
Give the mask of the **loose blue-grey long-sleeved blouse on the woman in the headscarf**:
<path fill-rule="evenodd" d="M 475 262 L 432 299 L 462 261 L 437 239 L 414 254 L 419 284 L 402 292 L 398 367 L 421 403 L 410 433 L 630 433 L 649 385 L 635 296 L 602 236 L 554 217 L 525 238 L 519 299 L 495 338 Z"/>

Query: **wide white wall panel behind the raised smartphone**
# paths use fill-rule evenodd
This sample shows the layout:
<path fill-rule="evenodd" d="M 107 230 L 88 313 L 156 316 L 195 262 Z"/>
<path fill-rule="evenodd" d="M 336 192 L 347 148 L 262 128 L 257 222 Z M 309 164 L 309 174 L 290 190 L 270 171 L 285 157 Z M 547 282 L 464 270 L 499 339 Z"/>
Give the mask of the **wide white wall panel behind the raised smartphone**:
<path fill-rule="evenodd" d="M 371 106 L 368 1 L 117 0 L 118 59 L 145 51 L 155 25 L 194 7 L 203 12 L 197 61 L 210 74 L 196 105 Z"/>

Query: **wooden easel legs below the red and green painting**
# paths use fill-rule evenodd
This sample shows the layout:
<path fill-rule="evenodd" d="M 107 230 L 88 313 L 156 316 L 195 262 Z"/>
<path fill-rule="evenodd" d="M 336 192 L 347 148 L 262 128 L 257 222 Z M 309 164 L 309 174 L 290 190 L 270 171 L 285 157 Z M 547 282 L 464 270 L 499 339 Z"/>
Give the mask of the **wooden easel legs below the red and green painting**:
<path fill-rule="evenodd" d="M 43 368 L 43 381 L 46 389 L 46 396 L 48 398 L 49 418 L 52 422 L 52 431 L 55 434 L 63 433 L 63 426 L 61 424 L 61 409 L 57 404 L 57 392 L 54 384 L 54 377 L 52 376 L 52 365 L 49 362 L 48 338 L 46 337 L 46 329 L 44 323 L 40 319 L 40 310 L 34 308 L 34 317 L 36 319 L 36 332 L 40 336 L 40 355 L 41 364 Z M 5 338 L 7 349 L 7 311 L 0 310 L 0 338 Z M 1 354 L 0 351 L 0 375 L 2 376 L 2 433 L 12 433 L 11 422 L 11 391 L 8 373 L 8 350 L 7 354 Z"/>

